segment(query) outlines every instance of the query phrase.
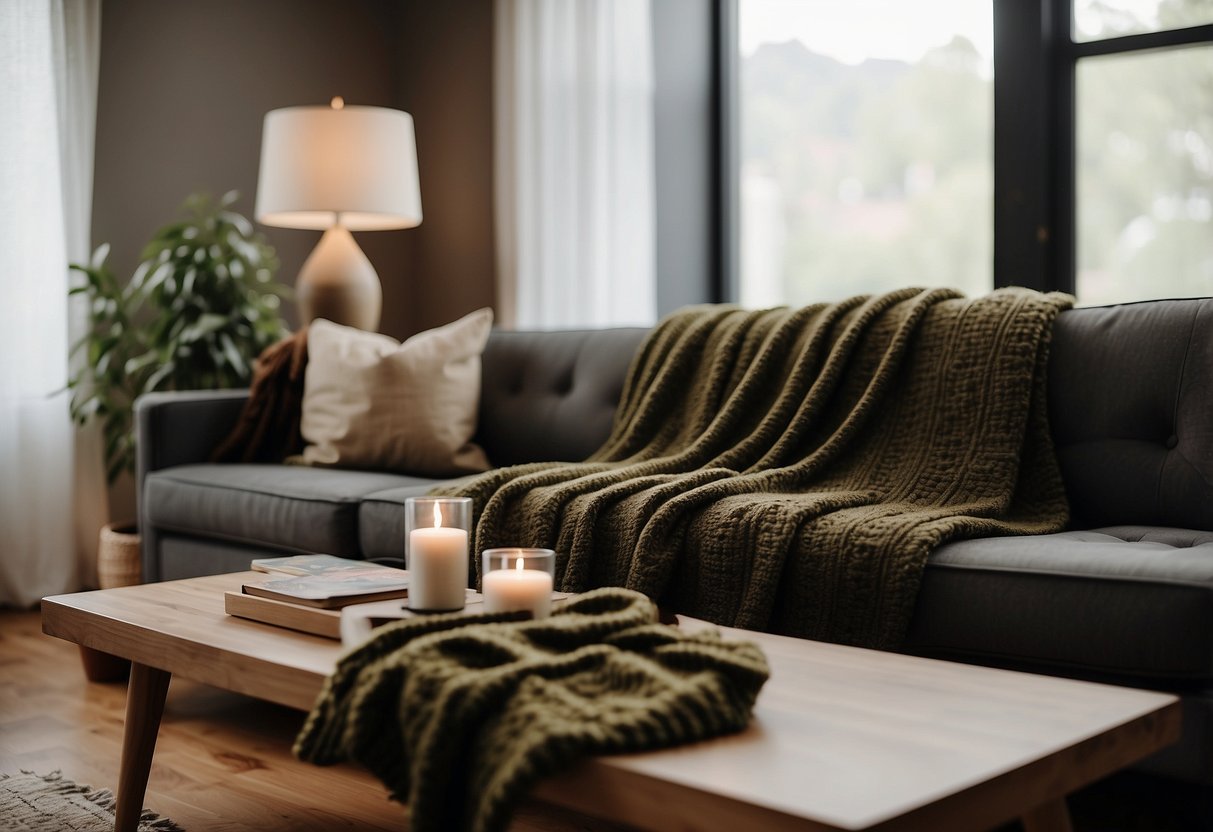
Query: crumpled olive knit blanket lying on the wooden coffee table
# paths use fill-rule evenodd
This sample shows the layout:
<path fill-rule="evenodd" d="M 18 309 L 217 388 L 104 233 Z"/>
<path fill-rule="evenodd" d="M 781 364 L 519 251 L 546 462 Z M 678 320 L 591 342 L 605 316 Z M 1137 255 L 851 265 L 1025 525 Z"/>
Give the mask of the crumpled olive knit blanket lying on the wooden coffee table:
<path fill-rule="evenodd" d="M 768 676 L 757 646 L 657 623 L 627 589 L 517 619 L 449 614 L 377 631 L 338 662 L 295 753 L 361 763 L 408 804 L 414 832 L 489 832 L 583 756 L 741 730 Z"/>

